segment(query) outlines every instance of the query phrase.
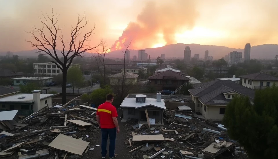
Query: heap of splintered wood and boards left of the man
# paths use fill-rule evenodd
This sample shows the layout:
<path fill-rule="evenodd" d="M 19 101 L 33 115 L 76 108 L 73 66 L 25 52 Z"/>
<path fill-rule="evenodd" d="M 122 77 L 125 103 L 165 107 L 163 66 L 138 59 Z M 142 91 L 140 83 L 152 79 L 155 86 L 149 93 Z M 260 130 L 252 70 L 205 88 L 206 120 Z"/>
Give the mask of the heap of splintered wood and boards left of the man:
<path fill-rule="evenodd" d="M 96 110 L 86 105 L 47 107 L 22 120 L 17 111 L 5 111 L 8 116 L 0 115 L 0 158 L 15 152 L 19 159 L 82 157 L 95 147 L 90 142 L 100 130 Z"/>

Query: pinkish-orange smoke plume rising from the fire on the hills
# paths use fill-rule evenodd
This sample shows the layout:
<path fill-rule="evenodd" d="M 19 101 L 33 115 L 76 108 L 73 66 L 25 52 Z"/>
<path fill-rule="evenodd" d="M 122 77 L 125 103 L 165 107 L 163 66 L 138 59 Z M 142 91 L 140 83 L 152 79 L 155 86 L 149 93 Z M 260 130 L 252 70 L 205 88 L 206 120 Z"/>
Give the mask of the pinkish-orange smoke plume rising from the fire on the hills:
<path fill-rule="evenodd" d="M 194 27 L 198 16 L 195 7 L 194 0 L 148 1 L 136 22 L 128 24 L 111 51 L 122 49 L 123 42 L 130 41 L 130 49 L 152 47 L 163 40 L 166 44 L 176 43 L 175 33 Z"/>

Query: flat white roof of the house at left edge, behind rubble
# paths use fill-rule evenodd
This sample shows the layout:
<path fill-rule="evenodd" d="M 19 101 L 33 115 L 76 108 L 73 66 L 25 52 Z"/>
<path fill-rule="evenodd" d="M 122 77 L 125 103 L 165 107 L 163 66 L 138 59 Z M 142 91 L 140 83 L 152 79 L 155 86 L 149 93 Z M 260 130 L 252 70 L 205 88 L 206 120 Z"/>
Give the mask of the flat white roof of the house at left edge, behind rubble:
<path fill-rule="evenodd" d="M 54 95 L 55 94 L 40 94 L 41 100 Z M 25 98 L 17 99 L 18 97 L 25 97 Z M 15 94 L 13 96 L 0 98 L 0 102 L 32 103 L 33 101 L 34 101 L 33 94 Z"/>

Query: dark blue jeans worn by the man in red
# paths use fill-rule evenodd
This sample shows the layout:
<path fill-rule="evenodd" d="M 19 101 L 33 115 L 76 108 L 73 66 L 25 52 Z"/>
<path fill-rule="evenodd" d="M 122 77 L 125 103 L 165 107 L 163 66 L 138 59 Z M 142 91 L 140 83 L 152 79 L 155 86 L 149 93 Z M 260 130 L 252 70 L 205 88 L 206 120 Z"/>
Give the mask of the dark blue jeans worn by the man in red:
<path fill-rule="evenodd" d="M 109 157 L 113 157 L 115 154 L 115 141 L 116 141 L 116 127 L 111 129 L 101 128 L 101 155 L 104 157 L 107 153 L 107 139 L 109 135 Z"/>

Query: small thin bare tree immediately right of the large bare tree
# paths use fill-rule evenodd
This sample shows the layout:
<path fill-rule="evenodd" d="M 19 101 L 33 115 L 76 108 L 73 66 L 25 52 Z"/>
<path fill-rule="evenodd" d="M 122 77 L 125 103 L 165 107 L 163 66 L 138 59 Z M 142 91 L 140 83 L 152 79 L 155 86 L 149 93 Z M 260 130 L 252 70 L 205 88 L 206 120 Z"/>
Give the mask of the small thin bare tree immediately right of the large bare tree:
<path fill-rule="evenodd" d="M 109 50 L 112 48 L 108 48 L 105 41 L 101 41 L 99 47 L 96 48 L 94 51 L 97 53 L 97 55 L 92 55 L 96 59 L 96 63 L 98 65 L 98 71 L 100 72 L 101 77 L 103 78 L 103 85 L 106 85 L 107 79 L 106 79 L 106 68 L 105 68 L 105 55 Z M 103 70 L 100 69 L 100 67 L 103 67 Z"/>

